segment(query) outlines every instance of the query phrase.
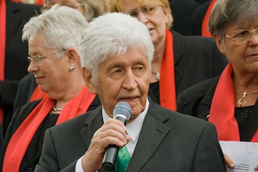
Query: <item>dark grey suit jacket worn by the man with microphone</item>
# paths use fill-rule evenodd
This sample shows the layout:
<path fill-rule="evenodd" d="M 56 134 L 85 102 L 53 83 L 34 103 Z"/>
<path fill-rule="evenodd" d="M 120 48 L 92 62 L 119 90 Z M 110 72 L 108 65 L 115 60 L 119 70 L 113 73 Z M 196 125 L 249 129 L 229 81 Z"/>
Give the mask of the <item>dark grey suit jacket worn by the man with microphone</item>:
<path fill-rule="evenodd" d="M 35 172 L 74 172 L 93 134 L 103 125 L 101 110 L 99 107 L 48 129 Z M 127 172 L 225 171 L 213 124 L 150 101 Z"/>

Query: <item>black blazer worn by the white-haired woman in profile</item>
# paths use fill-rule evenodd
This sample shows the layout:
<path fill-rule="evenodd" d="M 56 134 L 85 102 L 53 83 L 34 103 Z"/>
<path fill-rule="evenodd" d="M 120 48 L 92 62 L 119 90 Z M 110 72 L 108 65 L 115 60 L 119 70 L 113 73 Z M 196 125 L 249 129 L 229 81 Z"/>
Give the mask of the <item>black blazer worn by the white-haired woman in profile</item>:
<path fill-rule="evenodd" d="M 22 122 L 26 119 L 26 117 L 30 114 L 30 112 L 38 105 L 40 101 L 41 100 L 36 100 L 22 107 L 19 107 L 17 111 L 14 113 L 13 118 L 10 122 L 10 125 L 8 126 L 8 130 L 6 132 L 6 136 L 3 141 L 3 146 L 0 151 L 0 171 L 2 170 L 4 152 L 7 148 L 8 142 L 10 141 L 11 137 L 18 129 L 18 127 L 22 124 Z M 96 96 L 95 99 L 90 104 L 87 112 L 96 109 L 100 105 L 101 103 L 100 103 L 99 97 Z M 43 123 L 39 126 L 39 128 L 41 127 L 43 127 Z M 40 156 L 35 156 L 39 137 L 40 137 L 40 132 L 39 130 L 37 130 L 31 142 L 29 143 L 28 149 L 22 160 L 19 172 L 25 172 L 29 170 L 32 172 L 34 170 L 36 165 L 35 162 L 38 162 L 40 158 Z"/>

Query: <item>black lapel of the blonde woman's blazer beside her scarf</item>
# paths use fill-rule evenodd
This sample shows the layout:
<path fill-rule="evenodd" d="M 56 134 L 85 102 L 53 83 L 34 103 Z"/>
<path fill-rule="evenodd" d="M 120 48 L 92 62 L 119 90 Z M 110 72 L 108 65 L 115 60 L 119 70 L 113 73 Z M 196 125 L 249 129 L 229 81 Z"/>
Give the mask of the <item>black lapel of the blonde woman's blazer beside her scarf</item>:
<path fill-rule="evenodd" d="M 180 69 L 177 67 L 177 63 L 180 60 L 180 58 L 183 56 L 184 52 L 184 39 L 181 35 L 176 33 L 175 31 L 171 30 L 173 34 L 173 52 L 174 52 L 174 75 L 175 75 L 175 86 L 178 85 L 182 73 Z"/>

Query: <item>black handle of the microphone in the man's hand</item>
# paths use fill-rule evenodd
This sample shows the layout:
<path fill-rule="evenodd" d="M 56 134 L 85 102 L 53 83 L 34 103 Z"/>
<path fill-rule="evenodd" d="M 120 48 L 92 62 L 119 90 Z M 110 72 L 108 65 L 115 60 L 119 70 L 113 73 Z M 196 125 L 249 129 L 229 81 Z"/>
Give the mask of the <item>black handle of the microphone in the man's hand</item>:
<path fill-rule="evenodd" d="M 126 118 L 126 117 L 125 117 Z M 115 119 L 118 119 L 119 121 L 123 122 L 123 124 L 126 126 L 126 119 L 121 116 L 116 116 Z M 106 152 L 103 158 L 102 162 L 102 168 L 106 171 L 112 171 L 115 168 L 115 161 L 118 155 L 120 147 L 117 147 L 116 145 L 109 145 L 106 148 Z"/>

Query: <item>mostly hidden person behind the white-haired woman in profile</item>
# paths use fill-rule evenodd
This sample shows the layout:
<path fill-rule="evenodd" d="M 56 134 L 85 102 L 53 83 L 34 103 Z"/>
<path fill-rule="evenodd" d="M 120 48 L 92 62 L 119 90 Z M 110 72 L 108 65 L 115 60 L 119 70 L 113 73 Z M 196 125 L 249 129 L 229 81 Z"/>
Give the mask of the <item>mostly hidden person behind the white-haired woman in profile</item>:
<path fill-rule="evenodd" d="M 46 0 L 43 10 L 51 8 L 56 3 L 79 10 L 87 21 L 107 12 L 106 0 Z M 30 74 L 24 77 L 18 87 L 13 112 L 18 107 L 42 97 L 44 93 L 37 86 L 34 76 Z"/>

